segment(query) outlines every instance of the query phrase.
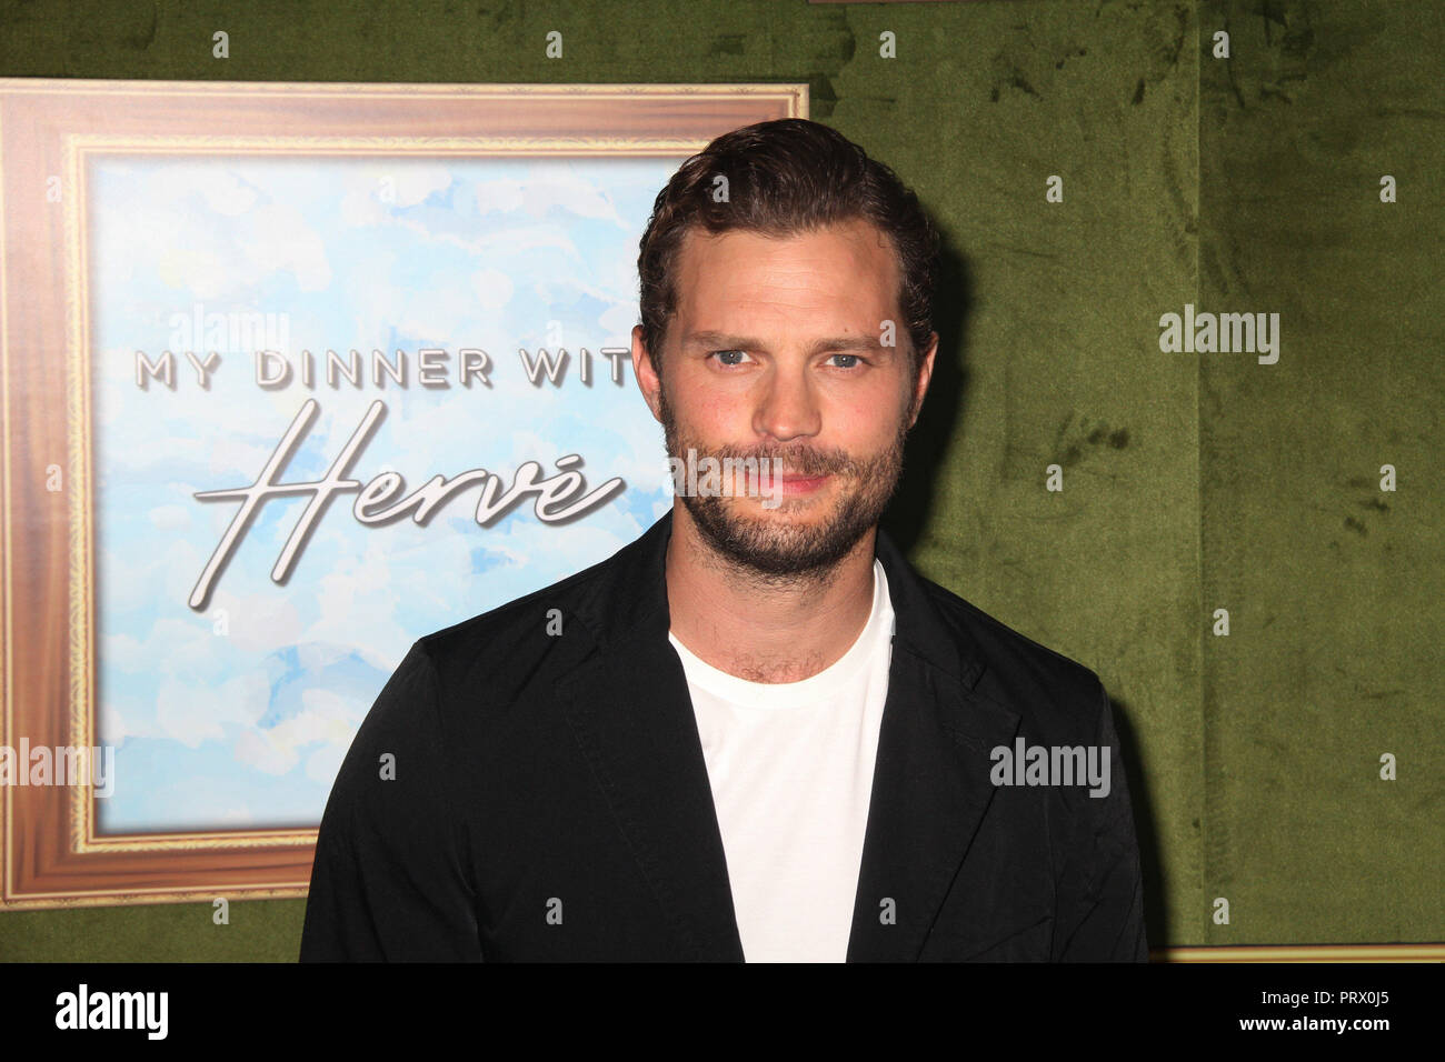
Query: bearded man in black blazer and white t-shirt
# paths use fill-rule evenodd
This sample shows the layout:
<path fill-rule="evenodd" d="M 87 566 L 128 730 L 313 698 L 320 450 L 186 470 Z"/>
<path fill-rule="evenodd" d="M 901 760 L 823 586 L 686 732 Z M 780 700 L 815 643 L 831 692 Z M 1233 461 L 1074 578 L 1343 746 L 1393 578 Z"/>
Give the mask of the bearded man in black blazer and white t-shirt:
<path fill-rule="evenodd" d="M 1098 678 L 877 529 L 936 241 L 811 121 L 679 169 L 634 376 L 669 455 L 767 472 L 412 646 L 327 805 L 302 959 L 1146 958 Z M 1103 785 L 1010 766 L 1032 747 Z"/>

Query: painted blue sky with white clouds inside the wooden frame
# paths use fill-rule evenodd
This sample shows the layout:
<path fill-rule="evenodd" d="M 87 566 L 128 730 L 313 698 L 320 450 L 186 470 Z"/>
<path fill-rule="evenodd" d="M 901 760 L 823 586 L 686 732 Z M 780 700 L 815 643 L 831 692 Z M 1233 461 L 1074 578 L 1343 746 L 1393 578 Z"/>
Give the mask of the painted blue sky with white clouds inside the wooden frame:
<path fill-rule="evenodd" d="M 637 321 L 637 240 L 681 159 L 101 156 L 91 160 L 100 740 L 116 792 L 101 832 L 314 825 L 341 757 L 418 637 L 555 582 L 637 538 L 670 506 L 662 429 L 630 364 L 601 347 Z M 220 350 L 202 390 L 136 386 L 137 350 L 186 345 L 199 314 L 272 314 L 293 364 L 327 348 L 410 355 L 409 386 L 254 381 L 250 348 Z M 210 350 L 205 337 L 192 345 Z M 270 342 L 267 345 L 277 345 Z M 416 383 L 416 351 L 491 355 L 487 390 Z M 565 347 L 559 387 L 533 387 L 519 348 Z M 578 354 L 594 353 L 592 386 Z M 351 478 L 410 493 L 434 475 L 581 454 L 588 490 L 627 488 L 565 526 L 525 500 L 491 527 L 458 493 L 426 527 L 368 527 L 331 503 L 286 585 L 270 571 L 305 497 L 267 501 L 205 613 L 192 587 L 237 510 L 197 500 L 251 484 L 308 397 L 319 415 L 280 481 L 321 478 L 381 399 Z M 224 610 L 228 633 L 214 631 Z"/>

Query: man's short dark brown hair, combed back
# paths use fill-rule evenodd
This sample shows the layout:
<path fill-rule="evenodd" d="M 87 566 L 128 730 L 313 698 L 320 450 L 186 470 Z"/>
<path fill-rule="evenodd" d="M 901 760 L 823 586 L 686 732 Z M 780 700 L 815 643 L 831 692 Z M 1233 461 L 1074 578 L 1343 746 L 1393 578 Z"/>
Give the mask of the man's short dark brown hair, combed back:
<path fill-rule="evenodd" d="M 727 201 L 715 201 L 717 178 L 727 178 Z M 828 126 L 777 118 L 724 133 L 694 155 L 657 194 L 642 234 L 643 345 L 660 371 L 668 322 L 678 308 L 673 277 L 682 237 L 747 230 L 786 237 L 863 218 L 893 241 L 913 377 L 932 332 L 933 282 L 939 236 L 918 197 L 884 163 Z"/>

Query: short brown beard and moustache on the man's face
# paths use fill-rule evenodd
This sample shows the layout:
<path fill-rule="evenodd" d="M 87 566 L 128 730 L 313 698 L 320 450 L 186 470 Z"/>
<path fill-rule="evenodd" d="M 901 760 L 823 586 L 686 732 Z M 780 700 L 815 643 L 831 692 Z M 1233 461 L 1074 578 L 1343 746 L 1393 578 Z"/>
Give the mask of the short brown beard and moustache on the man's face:
<path fill-rule="evenodd" d="M 657 403 L 668 455 L 672 458 L 685 459 L 685 454 L 692 449 L 698 458 L 712 457 L 720 461 L 756 458 L 759 461 L 756 467 L 760 470 L 783 467 L 790 475 L 831 477 L 814 494 L 798 497 L 779 494 L 777 507 L 770 510 L 764 510 L 760 501 L 746 496 L 711 497 L 686 491 L 679 494 L 715 558 L 746 574 L 757 585 L 793 587 L 805 582 L 816 585 L 831 582 L 838 562 L 877 526 L 903 474 L 907 418 L 899 422 L 897 433 L 881 454 L 854 459 L 840 449 L 808 446 L 707 449 L 678 431 L 676 416 L 668 405 L 668 392 L 660 381 Z M 809 519 L 811 511 L 824 507 L 829 511 Z M 753 516 L 754 509 L 766 514 Z"/>

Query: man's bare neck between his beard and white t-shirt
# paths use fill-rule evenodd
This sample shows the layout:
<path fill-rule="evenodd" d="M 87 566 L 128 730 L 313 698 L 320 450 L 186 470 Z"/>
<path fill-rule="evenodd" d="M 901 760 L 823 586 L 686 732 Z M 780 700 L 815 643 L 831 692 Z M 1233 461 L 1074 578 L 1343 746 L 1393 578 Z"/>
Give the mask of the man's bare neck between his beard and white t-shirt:
<path fill-rule="evenodd" d="M 704 663 L 749 682 L 801 682 L 842 659 L 867 626 L 876 527 L 828 571 L 777 581 L 721 558 L 682 504 L 670 519 L 672 634 Z"/>

